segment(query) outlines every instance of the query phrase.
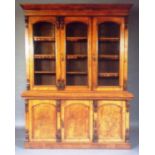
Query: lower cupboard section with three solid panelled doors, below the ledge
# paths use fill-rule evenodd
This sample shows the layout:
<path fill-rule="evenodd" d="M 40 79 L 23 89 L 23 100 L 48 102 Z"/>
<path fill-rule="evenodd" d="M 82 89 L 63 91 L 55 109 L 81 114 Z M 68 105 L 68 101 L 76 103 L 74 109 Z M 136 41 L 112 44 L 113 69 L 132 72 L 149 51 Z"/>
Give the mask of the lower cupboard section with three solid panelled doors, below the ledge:
<path fill-rule="evenodd" d="M 25 109 L 25 147 L 129 147 L 126 101 L 28 100 Z"/>

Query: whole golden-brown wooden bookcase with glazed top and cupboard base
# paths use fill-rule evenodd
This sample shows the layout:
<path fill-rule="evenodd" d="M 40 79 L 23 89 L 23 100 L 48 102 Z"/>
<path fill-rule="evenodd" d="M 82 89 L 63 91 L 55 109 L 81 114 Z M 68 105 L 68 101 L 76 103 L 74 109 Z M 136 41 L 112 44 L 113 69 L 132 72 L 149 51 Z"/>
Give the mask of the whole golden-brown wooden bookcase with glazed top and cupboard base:
<path fill-rule="evenodd" d="M 22 4 L 26 148 L 130 148 L 130 4 Z"/>

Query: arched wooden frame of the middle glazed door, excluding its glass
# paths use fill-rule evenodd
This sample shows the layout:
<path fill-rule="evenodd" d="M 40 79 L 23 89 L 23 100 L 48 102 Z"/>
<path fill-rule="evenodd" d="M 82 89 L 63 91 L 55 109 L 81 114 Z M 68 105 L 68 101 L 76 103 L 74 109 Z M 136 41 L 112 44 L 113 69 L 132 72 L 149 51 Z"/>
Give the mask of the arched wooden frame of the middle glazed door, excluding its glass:
<path fill-rule="evenodd" d="M 88 25 L 88 41 L 87 41 L 87 66 L 88 66 L 88 86 L 67 86 L 66 85 L 66 25 L 72 22 L 81 22 Z M 64 17 L 64 27 L 61 29 L 61 73 L 62 79 L 65 81 L 65 90 L 66 91 L 85 91 L 91 90 L 92 87 L 92 76 L 91 76 L 91 53 L 92 53 L 92 44 L 91 44 L 91 36 L 92 36 L 92 22 L 89 17 Z"/>

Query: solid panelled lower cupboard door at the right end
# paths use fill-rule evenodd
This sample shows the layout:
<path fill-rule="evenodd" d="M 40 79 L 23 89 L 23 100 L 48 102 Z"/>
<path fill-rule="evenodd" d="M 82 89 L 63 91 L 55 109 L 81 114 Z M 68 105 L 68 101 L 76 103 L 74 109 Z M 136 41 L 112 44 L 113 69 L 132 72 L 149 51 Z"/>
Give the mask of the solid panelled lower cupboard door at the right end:
<path fill-rule="evenodd" d="M 125 141 L 125 101 L 98 101 L 98 142 Z"/>

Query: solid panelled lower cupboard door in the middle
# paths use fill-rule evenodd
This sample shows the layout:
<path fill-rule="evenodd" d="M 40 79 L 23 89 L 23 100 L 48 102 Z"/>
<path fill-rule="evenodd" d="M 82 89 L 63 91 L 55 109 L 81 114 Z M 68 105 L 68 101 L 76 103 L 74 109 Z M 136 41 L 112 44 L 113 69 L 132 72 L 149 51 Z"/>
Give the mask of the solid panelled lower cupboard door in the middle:
<path fill-rule="evenodd" d="M 92 101 L 66 100 L 62 103 L 63 142 L 92 141 Z"/>

